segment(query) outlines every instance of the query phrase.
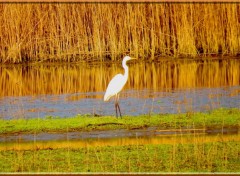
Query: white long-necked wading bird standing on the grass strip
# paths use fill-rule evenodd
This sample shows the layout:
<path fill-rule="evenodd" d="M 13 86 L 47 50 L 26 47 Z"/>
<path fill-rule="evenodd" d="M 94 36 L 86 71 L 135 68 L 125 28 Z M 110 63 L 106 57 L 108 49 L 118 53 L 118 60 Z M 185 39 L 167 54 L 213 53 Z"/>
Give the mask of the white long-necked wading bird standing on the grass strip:
<path fill-rule="evenodd" d="M 125 56 L 122 61 L 122 66 L 125 70 L 124 75 L 123 74 L 117 74 L 113 77 L 113 79 L 109 82 L 106 93 L 104 95 L 104 101 L 108 101 L 112 96 L 115 96 L 115 109 L 116 109 L 116 116 L 118 117 L 118 110 L 120 117 L 122 117 L 121 110 L 118 104 L 119 101 L 119 93 L 123 89 L 124 85 L 126 84 L 128 80 L 128 66 L 126 65 L 126 62 L 132 59 L 129 56 Z"/>

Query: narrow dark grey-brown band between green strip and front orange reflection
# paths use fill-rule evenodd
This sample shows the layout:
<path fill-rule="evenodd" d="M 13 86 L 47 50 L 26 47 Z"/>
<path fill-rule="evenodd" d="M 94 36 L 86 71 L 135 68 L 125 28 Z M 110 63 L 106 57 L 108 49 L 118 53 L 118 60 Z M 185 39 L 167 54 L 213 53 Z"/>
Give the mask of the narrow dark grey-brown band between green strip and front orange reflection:
<path fill-rule="evenodd" d="M 119 139 L 119 138 L 154 138 L 154 137 L 173 137 L 182 135 L 235 135 L 240 140 L 240 129 L 238 128 L 216 128 L 216 129 L 159 129 L 158 127 L 148 127 L 144 129 L 118 129 L 118 130 L 94 130 L 94 131 L 76 131 L 76 132 L 52 132 L 38 134 L 4 134 L 0 135 L 0 142 L 29 142 L 29 141 L 68 141 L 68 140 L 99 140 L 99 139 Z M 103 141 L 105 141 L 103 140 Z"/>

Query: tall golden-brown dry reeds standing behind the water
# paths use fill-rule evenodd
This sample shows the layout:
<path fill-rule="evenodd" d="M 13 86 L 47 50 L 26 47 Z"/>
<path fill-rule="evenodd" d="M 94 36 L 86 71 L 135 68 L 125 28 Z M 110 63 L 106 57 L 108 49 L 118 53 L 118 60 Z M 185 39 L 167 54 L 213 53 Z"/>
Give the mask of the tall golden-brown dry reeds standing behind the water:
<path fill-rule="evenodd" d="M 238 55 L 240 4 L 2 3 L 0 61 Z"/>

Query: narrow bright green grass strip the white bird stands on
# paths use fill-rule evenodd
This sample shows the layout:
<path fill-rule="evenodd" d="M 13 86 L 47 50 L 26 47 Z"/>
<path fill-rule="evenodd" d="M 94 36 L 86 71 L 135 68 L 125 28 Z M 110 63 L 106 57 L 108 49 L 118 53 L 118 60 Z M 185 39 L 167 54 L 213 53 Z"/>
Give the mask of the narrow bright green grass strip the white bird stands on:
<path fill-rule="evenodd" d="M 210 112 L 124 116 L 92 117 L 77 115 L 76 117 L 33 118 L 17 120 L 0 120 L 0 133 L 40 133 L 70 132 L 113 129 L 138 129 L 157 126 L 159 129 L 180 128 L 231 128 L 240 127 L 239 109 L 218 109 Z"/>

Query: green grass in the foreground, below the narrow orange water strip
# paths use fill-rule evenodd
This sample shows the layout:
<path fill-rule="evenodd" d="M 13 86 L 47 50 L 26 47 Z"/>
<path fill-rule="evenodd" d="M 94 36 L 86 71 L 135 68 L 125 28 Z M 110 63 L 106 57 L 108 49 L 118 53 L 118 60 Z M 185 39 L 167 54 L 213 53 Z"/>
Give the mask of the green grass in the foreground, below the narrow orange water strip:
<path fill-rule="evenodd" d="M 0 151 L 1 172 L 239 172 L 239 142 Z"/>

